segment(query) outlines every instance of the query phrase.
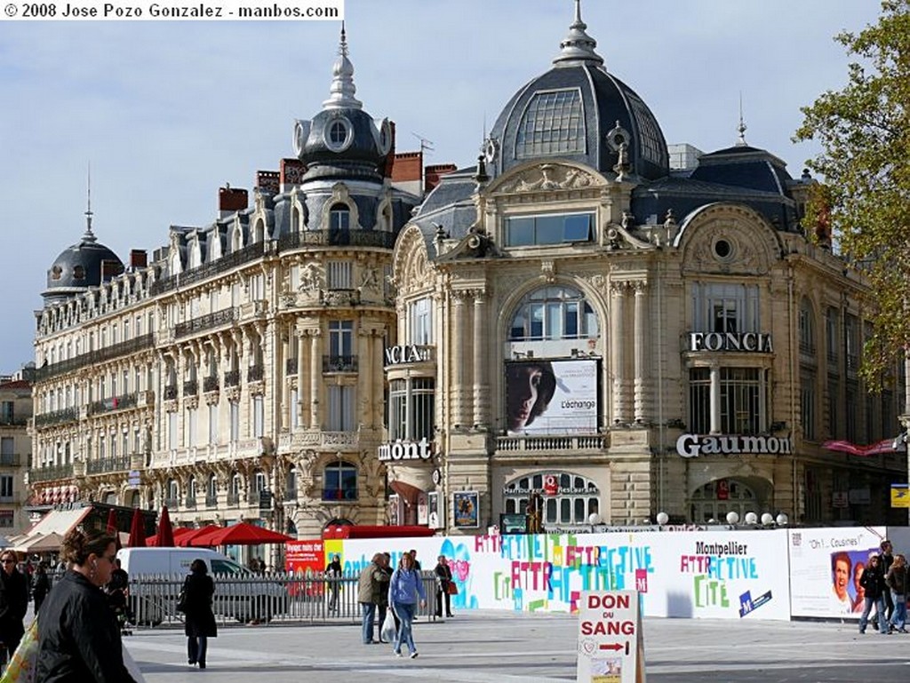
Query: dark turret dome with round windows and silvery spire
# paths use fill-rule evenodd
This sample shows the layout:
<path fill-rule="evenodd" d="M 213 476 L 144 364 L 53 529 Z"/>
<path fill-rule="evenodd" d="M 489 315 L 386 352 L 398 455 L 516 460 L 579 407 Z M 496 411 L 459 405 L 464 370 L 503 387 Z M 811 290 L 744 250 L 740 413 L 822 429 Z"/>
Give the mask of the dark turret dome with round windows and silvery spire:
<path fill-rule="evenodd" d="M 363 111 L 354 94 L 354 65 L 348 58 L 348 41 L 341 27 L 339 57 L 332 67 L 329 99 L 311 121 L 298 120 L 294 150 L 307 165 L 304 178 L 381 179 L 392 147 L 391 124 Z"/>

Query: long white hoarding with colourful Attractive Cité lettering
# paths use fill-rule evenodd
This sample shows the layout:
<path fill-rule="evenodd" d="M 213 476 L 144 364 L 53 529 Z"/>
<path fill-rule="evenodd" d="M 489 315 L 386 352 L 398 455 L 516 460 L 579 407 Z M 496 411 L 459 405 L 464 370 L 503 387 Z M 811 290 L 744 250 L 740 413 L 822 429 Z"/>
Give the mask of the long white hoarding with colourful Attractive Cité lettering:
<path fill-rule="evenodd" d="M 636 589 L 648 617 L 790 618 L 786 531 L 346 539 L 345 571 L 410 548 L 422 568 L 449 559 L 456 609 L 575 612 L 581 591 Z"/>

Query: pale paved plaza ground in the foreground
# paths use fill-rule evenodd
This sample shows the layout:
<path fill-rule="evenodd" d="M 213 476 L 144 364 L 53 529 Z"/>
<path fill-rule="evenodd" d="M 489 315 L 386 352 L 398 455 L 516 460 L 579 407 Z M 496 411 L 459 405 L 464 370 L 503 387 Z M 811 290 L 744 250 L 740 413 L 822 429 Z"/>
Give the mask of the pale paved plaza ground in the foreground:
<path fill-rule="evenodd" d="M 475 610 L 415 624 L 420 657 L 361 645 L 359 624 L 221 628 L 208 668 L 190 668 L 182 630 L 125 638 L 148 683 L 377 680 L 547 683 L 575 680 L 576 619 Z M 902 680 L 910 636 L 860 636 L 855 623 L 644 620 L 649 683 L 856 683 Z"/>

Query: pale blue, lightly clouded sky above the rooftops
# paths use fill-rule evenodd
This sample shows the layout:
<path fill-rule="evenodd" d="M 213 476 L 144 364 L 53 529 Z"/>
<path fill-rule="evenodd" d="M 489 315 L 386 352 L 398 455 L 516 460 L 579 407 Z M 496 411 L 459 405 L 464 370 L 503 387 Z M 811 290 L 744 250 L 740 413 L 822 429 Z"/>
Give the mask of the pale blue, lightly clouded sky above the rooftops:
<path fill-rule="evenodd" d="M 471 166 L 521 85 L 551 67 L 571 0 L 346 0 L 357 97 L 396 122 L 396 149 Z M 668 143 L 746 141 L 792 176 L 800 107 L 846 82 L 834 35 L 875 23 L 878 0 L 583 0 L 613 75 Z M 34 359 L 47 269 L 86 227 L 127 261 L 171 225 L 205 226 L 217 190 L 252 189 L 293 156 L 297 118 L 329 96 L 339 22 L 9 22 L 0 31 L 0 372 Z"/>

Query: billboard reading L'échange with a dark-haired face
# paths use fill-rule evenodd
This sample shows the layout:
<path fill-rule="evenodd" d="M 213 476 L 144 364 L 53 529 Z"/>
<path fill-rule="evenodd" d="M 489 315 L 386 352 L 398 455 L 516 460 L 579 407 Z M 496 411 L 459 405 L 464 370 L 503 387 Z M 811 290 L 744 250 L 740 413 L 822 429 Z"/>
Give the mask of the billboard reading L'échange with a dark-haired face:
<path fill-rule="evenodd" d="M 508 361 L 506 429 L 512 435 L 597 432 L 597 361 Z"/>

